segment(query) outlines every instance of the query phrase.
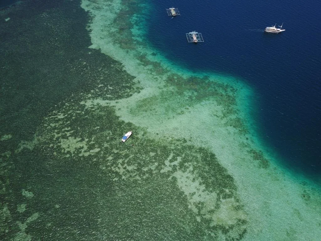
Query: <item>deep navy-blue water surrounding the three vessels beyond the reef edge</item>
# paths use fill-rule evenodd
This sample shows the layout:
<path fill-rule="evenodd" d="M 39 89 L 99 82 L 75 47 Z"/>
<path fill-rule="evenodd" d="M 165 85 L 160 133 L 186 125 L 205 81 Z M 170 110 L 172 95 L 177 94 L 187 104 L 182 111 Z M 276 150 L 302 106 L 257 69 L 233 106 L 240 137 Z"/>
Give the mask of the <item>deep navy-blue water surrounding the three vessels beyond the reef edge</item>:
<path fill-rule="evenodd" d="M 283 164 L 321 174 L 321 2 L 152 1 L 149 40 L 190 70 L 225 73 L 255 90 L 253 113 L 261 138 Z M 165 8 L 177 7 L 173 19 Z M 286 31 L 265 34 L 277 23 Z M 185 33 L 201 32 L 204 43 Z"/>

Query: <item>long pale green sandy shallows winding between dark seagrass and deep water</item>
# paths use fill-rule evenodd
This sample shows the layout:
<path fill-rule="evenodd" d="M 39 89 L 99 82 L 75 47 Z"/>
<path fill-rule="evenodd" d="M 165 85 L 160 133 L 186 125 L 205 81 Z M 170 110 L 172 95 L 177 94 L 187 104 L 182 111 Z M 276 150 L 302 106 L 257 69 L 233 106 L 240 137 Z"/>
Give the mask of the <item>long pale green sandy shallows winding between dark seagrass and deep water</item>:
<path fill-rule="evenodd" d="M 316 237 L 321 236 L 321 199 L 318 188 L 304 182 L 306 181 L 304 178 L 295 178 L 282 170 L 274 164 L 276 161 L 271 161 L 268 168 L 258 168 L 259 164 L 253 161 L 250 154 L 252 149 L 262 149 L 258 146 L 256 138 L 251 136 L 247 140 L 244 134 L 239 134 L 236 129 L 226 126 L 227 118 L 222 115 L 221 106 L 218 106 L 211 97 L 195 101 L 191 105 L 188 102 L 184 104 L 182 101 L 184 96 L 173 96 L 172 89 L 175 87 L 165 85 L 163 82 L 170 74 L 158 75 L 152 66 L 142 66 L 136 58 L 138 50 L 123 50 L 110 39 L 110 35 L 116 31 L 113 19 L 121 8 L 120 2 L 114 1 L 105 7 L 102 2 L 98 3 L 100 9 L 88 1 L 83 1 L 82 4 L 82 7 L 90 10 L 93 16 L 90 24 L 93 44 L 91 48 L 99 48 L 103 53 L 122 62 L 124 69 L 136 76 L 137 83 L 139 82 L 144 89 L 128 99 L 110 102 L 102 97 L 85 100 L 82 104 L 115 106 L 121 119 L 146 128 L 150 138 L 155 138 L 156 133 L 158 137 L 164 139 L 184 137 L 195 146 L 210 148 L 238 186 L 249 220 L 245 240 L 280 240 L 280 237 L 282 239 L 288 237 L 291 240 L 317 240 Z M 152 61 L 161 59 L 161 57 L 150 57 L 153 51 L 146 46 L 144 50 L 139 51 L 148 53 L 147 56 Z M 170 64 L 166 66 L 164 60 L 162 63 L 163 67 L 170 69 L 172 73 L 181 76 L 192 75 Z M 239 105 L 241 99 L 246 99 L 242 95 L 250 96 L 247 87 L 234 83 L 233 79 L 223 79 L 222 76 L 216 75 L 212 75 L 210 79 L 236 86 L 239 90 Z M 160 95 L 167 98 L 158 98 Z M 186 94 L 189 95 L 191 94 Z M 154 96 L 157 101 L 149 102 L 148 108 L 142 108 L 140 102 Z M 171 107 L 170 111 L 166 106 Z M 173 110 L 173 106 L 177 107 L 176 111 Z M 246 114 L 238 112 L 237 115 L 244 117 Z M 267 153 L 264 153 L 264 156 L 269 160 L 272 159 Z M 304 190 L 309 190 L 308 200 L 302 198 Z"/>

